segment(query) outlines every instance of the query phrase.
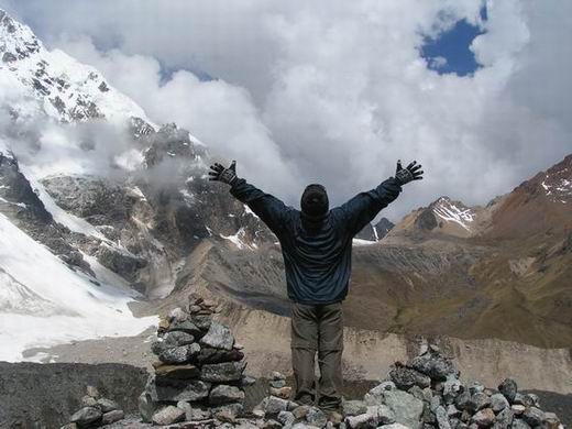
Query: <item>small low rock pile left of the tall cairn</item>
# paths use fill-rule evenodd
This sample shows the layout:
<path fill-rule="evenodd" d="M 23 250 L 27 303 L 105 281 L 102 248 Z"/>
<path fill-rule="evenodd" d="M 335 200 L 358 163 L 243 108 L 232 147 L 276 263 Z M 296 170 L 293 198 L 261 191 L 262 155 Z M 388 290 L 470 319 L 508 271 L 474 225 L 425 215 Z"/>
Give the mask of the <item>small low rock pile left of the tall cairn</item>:
<path fill-rule="evenodd" d="M 62 429 L 97 428 L 111 425 L 125 416 L 116 402 L 101 397 L 97 387 L 87 386 L 86 391 L 87 395 L 81 398 L 81 408 Z"/>

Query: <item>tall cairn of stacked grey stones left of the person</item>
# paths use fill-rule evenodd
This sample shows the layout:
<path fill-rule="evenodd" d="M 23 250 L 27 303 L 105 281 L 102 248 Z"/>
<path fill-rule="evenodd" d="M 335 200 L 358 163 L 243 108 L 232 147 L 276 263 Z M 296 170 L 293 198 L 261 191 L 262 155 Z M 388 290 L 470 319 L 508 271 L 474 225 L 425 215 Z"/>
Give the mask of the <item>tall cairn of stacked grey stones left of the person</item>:
<path fill-rule="evenodd" d="M 215 306 L 191 294 L 187 308 L 161 320 L 151 345 L 158 362 L 140 396 L 144 421 L 233 422 L 243 413 L 244 354 L 229 328 L 212 318 Z"/>

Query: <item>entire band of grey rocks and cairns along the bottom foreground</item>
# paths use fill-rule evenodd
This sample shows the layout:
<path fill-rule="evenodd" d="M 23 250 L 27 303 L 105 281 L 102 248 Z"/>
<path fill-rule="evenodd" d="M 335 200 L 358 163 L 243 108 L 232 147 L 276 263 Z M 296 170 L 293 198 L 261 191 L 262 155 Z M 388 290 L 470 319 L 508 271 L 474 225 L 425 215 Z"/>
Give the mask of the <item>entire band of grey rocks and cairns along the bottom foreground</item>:
<path fill-rule="evenodd" d="M 244 373 L 243 346 L 212 318 L 217 311 L 215 301 L 193 294 L 187 306 L 161 320 L 150 344 L 158 360 L 139 397 L 139 418 L 125 418 L 119 404 L 88 387 L 63 428 L 564 428 L 562 416 L 543 408 L 538 395 L 519 392 L 513 378 L 496 389 L 462 382 L 452 359 L 435 344 L 422 345 L 406 363 L 395 362 L 381 383 L 359 399 L 346 397 L 338 411 L 297 404 L 278 372 L 251 409 L 246 389 L 255 380 Z"/>

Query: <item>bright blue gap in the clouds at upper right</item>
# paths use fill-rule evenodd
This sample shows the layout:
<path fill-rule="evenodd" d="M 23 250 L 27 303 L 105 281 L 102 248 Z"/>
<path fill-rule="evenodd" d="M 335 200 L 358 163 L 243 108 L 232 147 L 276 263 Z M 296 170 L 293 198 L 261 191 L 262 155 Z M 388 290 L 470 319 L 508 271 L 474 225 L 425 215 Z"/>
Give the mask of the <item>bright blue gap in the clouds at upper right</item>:
<path fill-rule="evenodd" d="M 481 9 L 481 19 L 486 21 L 486 8 Z M 440 75 L 454 73 L 466 76 L 482 66 L 476 62 L 473 52 L 469 48 L 473 40 L 485 33 L 477 25 L 465 19 L 457 21 L 448 31 L 432 38 L 426 36 L 420 48 L 421 57 L 427 61 L 427 67 Z"/>

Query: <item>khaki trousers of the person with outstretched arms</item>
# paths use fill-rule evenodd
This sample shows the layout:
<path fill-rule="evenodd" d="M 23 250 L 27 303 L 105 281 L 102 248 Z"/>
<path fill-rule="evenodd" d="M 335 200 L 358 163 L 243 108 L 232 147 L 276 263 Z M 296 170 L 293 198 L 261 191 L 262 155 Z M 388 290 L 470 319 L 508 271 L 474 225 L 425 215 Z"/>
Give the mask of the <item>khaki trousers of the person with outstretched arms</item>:
<path fill-rule="evenodd" d="M 293 302 L 290 346 L 296 384 L 294 400 L 312 405 L 316 399 L 314 371 L 318 351 L 318 406 L 326 410 L 339 409 L 342 400 L 342 304 L 310 306 Z"/>

